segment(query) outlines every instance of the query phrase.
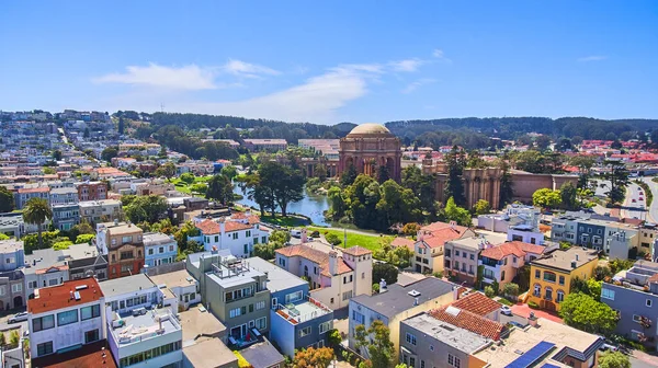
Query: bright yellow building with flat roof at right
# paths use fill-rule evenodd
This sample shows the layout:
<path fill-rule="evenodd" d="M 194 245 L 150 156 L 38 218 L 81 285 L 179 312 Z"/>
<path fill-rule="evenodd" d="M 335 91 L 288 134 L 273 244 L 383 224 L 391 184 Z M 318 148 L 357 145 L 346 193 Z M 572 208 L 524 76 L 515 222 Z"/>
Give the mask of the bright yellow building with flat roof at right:
<path fill-rule="evenodd" d="M 532 261 L 527 302 L 534 301 L 542 309 L 559 311 L 559 303 L 569 295 L 571 280 L 592 277 L 598 263 L 595 250 L 578 246 L 556 250 Z"/>

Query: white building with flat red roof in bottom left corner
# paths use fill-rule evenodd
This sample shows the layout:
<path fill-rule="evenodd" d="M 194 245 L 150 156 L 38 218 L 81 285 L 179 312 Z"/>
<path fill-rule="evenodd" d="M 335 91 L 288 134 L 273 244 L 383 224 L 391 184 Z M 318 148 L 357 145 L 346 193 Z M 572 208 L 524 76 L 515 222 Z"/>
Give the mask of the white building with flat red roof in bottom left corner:
<path fill-rule="evenodd" d="M 39 288 L 27 302 L 33 358 L 105 338 L 103 292 L 94 278 Z"/>

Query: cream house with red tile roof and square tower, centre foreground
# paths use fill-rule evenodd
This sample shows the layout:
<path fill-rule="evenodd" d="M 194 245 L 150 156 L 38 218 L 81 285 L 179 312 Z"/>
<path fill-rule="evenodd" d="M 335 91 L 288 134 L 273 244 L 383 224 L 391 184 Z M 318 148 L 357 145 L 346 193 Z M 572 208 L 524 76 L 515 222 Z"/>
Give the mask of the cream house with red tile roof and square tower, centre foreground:
<path fill-rule="evenodd" d="M 291 245 L 275 251 L 276 265 L 307 277 L 310 296 L 336 310 L 353 297 L 372 295 L 373 288 L 373 253 L 362 246 L 342 249 L 342 256 L 337 251 L 315 243 Z"/>

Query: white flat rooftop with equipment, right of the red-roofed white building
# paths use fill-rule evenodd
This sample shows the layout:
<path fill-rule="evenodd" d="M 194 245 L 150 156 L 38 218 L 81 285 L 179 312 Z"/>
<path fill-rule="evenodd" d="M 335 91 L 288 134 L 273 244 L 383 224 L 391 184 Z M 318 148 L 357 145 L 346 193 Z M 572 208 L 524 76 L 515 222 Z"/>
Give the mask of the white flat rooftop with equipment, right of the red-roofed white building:
<path fill-rule="evenodd" d="M 140 343 L 145 340 L 158 337 L 164 334 L 181 331 L 180 322 L 170 313 L 169 308 L 147 310 L 145 314 L 114 313 L 113 321 L 109 326 L 115 325 L 114 321 L 121 319 L 121 326 L 112 327 L 113 338 L 120 345 Z M 110 329 L 109 329 L 110 330 Z"/>

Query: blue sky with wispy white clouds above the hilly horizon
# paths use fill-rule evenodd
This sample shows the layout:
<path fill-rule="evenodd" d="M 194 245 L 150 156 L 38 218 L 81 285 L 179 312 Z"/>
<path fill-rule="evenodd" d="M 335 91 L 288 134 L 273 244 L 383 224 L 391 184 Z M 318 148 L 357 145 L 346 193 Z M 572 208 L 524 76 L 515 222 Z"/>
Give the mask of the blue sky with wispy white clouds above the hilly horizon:
<path fill-rule="evenodd" d="M 2 1 L 0 108 L 658 118 L 656 1 Z"/>

